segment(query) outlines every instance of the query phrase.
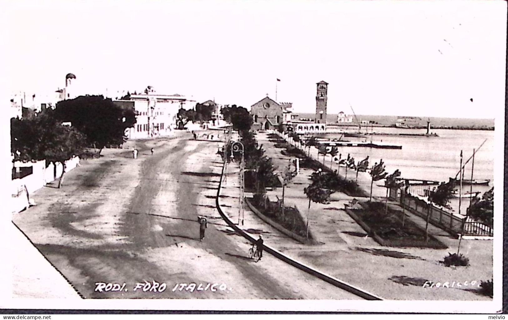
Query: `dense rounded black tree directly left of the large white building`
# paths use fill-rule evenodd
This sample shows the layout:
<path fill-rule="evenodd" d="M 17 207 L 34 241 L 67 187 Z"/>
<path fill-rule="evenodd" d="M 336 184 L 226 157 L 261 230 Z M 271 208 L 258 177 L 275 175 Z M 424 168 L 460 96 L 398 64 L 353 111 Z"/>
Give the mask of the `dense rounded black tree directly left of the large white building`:
<path fill-rule="evenodd" d="M 125 129 L 134 127 L 134 108 L 122 108 L 102 95 L 79 96 L 56 104 L 55 117 L 86 136 L 89 146 L 99 149 L 121 145 L 126 141 Z"/>

